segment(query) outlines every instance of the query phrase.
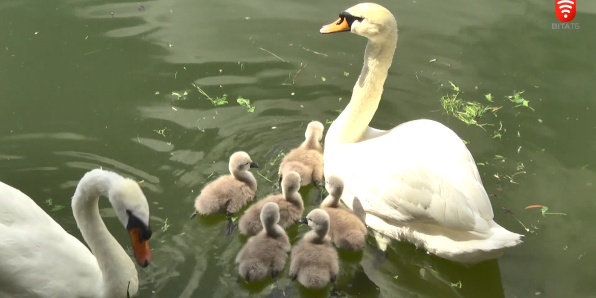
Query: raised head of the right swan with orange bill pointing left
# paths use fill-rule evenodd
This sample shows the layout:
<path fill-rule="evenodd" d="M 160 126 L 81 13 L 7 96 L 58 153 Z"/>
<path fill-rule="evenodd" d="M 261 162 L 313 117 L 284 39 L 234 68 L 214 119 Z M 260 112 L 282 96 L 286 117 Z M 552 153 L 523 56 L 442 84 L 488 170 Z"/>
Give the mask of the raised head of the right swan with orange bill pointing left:
<path fill-rule="evenodd" d="M 398 24 L 387 8 L 375 3 L 360 3 L 339 14 L 331 24 L 321 27 L 321 33 L 352 32 L 375 40 L 396 34 Z"/>

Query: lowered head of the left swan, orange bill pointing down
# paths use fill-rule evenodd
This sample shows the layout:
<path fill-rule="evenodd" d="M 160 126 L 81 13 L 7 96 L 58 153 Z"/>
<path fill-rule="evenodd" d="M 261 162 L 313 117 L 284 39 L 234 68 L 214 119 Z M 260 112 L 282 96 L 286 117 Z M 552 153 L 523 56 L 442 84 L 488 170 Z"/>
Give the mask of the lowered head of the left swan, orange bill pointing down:
<path fill-rule="evenodd" d="M 148 240 L 152 234 L 147 198 L 139 184 L 132 179 L 122 179 L 113 183 L 108 193 L 110 203 L 116 216 L 131 235 L 136 262 L 142 267 L 147 267 L 151 262 Z"/>

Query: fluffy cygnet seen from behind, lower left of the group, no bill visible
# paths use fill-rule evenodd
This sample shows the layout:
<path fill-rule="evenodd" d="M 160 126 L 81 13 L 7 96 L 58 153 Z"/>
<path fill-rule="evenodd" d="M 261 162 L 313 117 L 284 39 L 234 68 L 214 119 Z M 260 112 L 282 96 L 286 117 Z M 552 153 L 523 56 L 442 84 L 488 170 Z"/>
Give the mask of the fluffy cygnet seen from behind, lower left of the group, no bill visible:
<path fill-rule="evenodd" d="M 280 207 L 266 203 L 260 213 L 263 230 L 249 238 L 236 256 L 238 272 L 246 281 L 258 281 L 271 276 L 275 281 L 284 269 L 291 245 L 280 221 Z"/>

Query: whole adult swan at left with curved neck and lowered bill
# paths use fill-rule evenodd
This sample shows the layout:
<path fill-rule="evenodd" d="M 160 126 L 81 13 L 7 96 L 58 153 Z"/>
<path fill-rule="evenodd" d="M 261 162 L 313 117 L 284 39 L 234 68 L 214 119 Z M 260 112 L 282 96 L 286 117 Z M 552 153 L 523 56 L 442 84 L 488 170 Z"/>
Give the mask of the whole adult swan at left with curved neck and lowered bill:
<path fill-rule="evenodd" d="M 0 297 L 126 298 L 127 288 L 136 294 L 135 264 L 101 219 L 101 195 L 130 232 L 136 261 L 149 265 L 149 205 L 135 181 L 101 169 L 80 179 L 72 209 L 91 252 L 26 194 L 0 182 Z"/>

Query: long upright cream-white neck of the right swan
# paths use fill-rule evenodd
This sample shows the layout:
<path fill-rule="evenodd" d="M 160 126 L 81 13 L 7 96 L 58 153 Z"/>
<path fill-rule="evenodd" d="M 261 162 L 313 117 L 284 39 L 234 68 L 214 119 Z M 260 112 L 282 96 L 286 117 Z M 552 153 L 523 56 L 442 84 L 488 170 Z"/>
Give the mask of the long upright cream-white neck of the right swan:
<path fill-rule="evenodd" d="M 364 66 L 354 85 L 350 103 L 331 123 L 325 136 L 325 145 L 353 143 L 362 139 L 381 101 L 397 39 L 395 31 L 385 38 L 368 41 Z"/>

